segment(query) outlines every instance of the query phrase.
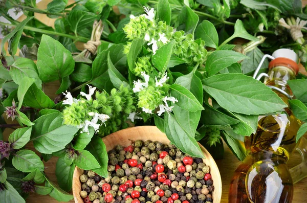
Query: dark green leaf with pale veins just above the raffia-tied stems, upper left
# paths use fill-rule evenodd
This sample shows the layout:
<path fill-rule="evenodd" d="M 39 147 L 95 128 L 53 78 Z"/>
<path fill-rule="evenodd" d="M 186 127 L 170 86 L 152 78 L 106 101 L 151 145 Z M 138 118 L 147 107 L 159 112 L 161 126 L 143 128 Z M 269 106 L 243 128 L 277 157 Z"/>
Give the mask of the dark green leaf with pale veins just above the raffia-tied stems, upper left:
<path fill-rule="evenodd" d="M 71 31 L 77 35 L 77 31 L 92 26 L 96 18 L 97 15 L 94 13 L 72 10 L 68 15 L 68 24 L 70 25 Z"/>

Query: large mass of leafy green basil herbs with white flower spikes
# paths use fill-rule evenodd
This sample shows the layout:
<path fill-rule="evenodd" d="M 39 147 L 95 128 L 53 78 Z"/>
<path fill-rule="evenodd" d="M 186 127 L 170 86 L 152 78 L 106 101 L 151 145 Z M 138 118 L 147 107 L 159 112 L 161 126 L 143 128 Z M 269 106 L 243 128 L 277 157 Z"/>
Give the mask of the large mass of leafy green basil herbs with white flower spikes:
<path fill-rule="evenodd" d="M 54 0 L 41 10 L 35 1 L 2 1 L 0 12 L 11 24 L 0 25 L 14 29 L 2 43 L 3 48 L 9 41 L 11 56 L 2 49 L 0 110 L 17 122 L 0 121 L 0 198 L 25 202 L 29 192 L 36 192 L 69 201 L 75 166 L 106 177 L 108 157 L 100 137 L 134 125 L 156 125 L 196 157 L 203 157 L 197 141 L 221 155 L 223 138 L 243 160 L 238 142 L 255 132 L 258 115 L 287 106 L 250 77 L 261 57 L 292 48 L 302 62 L 306 58 L 304 36 L 294 40 L 279 26 L 281 17 L 288 25 L 294 17 L 305 19 L 301 2 L 288 2 L 89 0 L 67 5 Z M 27 19 L 13 20 L 10 8 L 23 10 Z M 57 18 L 55 29 L 34 18 L 35 12 Z M 243 43 L 237 44 L 238 38 Z M 76 41 L 86 42 L 86 50 L 77 50 Z M 19 56 L 14 56 L 17 48 Z M 267 66 L 268 61 L 262 71 Z M 289 82 L 297 98 L 291 108 L 306 121 L 307 80 L 298 77 Z M 61 85 L 51 100 L 43 87 L 57 80 Z M 19 125 L 3 141 L 4 129 Z M 303 124 L 297 140 L 306 130 Z M 40 157 L 25 149 L 30 142 Z M 42 160 L 52 156 L 59 157 L 59 187 L 44 172 Z"/>

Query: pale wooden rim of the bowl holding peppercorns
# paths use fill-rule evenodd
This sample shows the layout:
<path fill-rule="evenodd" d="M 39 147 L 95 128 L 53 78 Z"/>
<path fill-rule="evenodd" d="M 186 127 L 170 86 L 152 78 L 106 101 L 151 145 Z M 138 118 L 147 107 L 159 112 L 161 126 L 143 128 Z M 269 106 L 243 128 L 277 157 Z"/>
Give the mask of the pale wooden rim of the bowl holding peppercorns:
<path fill-rule="evenodd" d="M 156 126 L 144 125 L 144 126 L 129 127 L 129 128 L 125 128 L 125 129 L 122 129 L 122 130 L 118 130 L 118 131 L 116 131 L 112 134 L 109 134 L 108 136 L 103 137 L 102 140 L 105 143 L 110 138 L 112 138 L 114 136 L 118 136 L 118 134 L 129 134 L 127 132 L 129 132 L 131 130 L 135 130 L 135 129 L 138 130 L 138 131 L 143 131 L 143 130 L 147 131 L 148 128 L 151 128 L 151 129 L 149 129 L 150 132 L 159 133 L 158 136 L 166 137 L 166 134 L 163 133 L 162 131 L 160 131 Z M 166 139 L 167 139 L 167 137 L 166 137 Z M 131 141 L 130 138 L 127 138 L 127 140 Z M 145 139 L 145 140 L 148 140 L 148 139 Z M 221 199 L 222 199 L 222 178 L 221 178 L 220 170 L 218 170 L 216 162 L 214 161 L 211 154 L 207 151 L 207 149 L 203 145 L 201 145 L 199 142 L 198 142 L 198 144 L 199 144 L 201 150 L 203 151 L 203 153 L 205 155 L 205 159 L 203 159 L 204 162 L 210 162 L 210 164 L 209 164 L 210 174 L 212 175 L 212 172 L 211 172 L 212 169 L 214 170 L 214 174 L 217 174 L 217 175 L 214 175 L 214 179 L 212 178 L 213 179 L 213 186 L 214 186 L 214 192 L 212 193 L 212 197 L 213 197 L 213 203 L 219 203 L 219 202 L 221 202 Z M 73 188 L 72 188 L 74 200 L 75 200 L 76 203 L 83 202 L 83 199 L 80 196 L 81 183 L 80 183 L 80 179 L 79 179 L 79 174 L 81 174 L 81 173 L 83 173 L 83 169 L 80 169 L 76 166 L 74 173 L 73 173 Z"/>

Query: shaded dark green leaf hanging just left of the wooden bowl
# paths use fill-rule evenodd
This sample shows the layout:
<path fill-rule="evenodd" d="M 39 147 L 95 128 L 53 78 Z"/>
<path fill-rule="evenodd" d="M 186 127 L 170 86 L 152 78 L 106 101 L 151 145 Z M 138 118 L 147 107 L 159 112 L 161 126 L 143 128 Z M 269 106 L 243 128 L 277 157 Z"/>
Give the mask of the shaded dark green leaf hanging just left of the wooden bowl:
<path fill-rule="evenodd" d="M 73 184 L 73 174 L 75 170 L 75 165 L 67 165 L 64 158 L 59 158 L 56 162 L 55 175 L 58 184 L 64 191 L 70 191 Z"/>

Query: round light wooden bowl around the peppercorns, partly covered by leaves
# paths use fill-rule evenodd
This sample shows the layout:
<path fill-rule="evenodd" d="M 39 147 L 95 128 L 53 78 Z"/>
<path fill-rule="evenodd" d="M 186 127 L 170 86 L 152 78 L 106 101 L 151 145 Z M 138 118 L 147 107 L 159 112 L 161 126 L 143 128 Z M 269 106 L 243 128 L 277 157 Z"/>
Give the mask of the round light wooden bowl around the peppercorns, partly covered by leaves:
<path fill-rule="evenodd" d="M 168 144 L 170 141 L 167 139 L 166 135 L 161 132 L 156 126 L 139 126 L 139 127 L 131 127 L 123 130 L 119 130 L 102 138 L 106 150 L 112 150 L 116 145 L 128 146 L 131 144 L 131 141 L 136 140 L 151 140 L 151 141 L 159 141 L 162 143 Z M 206 159 L 203 159 L 204 163 L 210 166 L 210 174 L 213 180 L 214 192 L 212 193 L 213 203 L 219 203 L 222 197 L 222 180 L 220 171 L 215 164 L 210 153 L 199 144 Z M 81 182 L 80 175 L 83 174 L 83 169 L 78 167 L 75 168 L 74 176 L 73 176 L 73 195 L 76 203 L 83 203 L 83 199 L 80 196 L 81 192 Z"/>

